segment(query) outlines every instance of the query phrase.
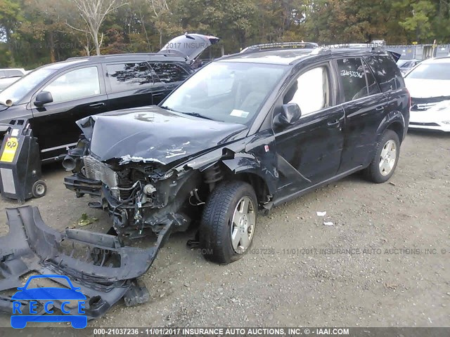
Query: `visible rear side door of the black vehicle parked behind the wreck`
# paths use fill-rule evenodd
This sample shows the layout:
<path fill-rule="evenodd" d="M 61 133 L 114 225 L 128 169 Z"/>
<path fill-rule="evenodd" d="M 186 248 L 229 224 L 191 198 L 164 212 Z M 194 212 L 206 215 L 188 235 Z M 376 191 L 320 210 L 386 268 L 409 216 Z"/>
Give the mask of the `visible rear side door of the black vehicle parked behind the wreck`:
<path fill-rule="evenodd" d="M 160 86 L 155 85 L 148 62 L 103 63 L 103 72 L 108 91 L 108 111 L 155 104 L 153 93 Z"/>

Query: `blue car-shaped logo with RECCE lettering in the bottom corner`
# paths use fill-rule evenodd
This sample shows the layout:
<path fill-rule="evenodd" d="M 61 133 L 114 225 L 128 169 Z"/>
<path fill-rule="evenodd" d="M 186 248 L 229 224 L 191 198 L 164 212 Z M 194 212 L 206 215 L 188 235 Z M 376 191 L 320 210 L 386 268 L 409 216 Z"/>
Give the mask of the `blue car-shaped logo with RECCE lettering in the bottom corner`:
<path fill-rule="evenodd" d="M 29 289 L 33 279 L 65 279 L 70 288 L 43 286 Z M 11 326 L 15 329 L 25 328 L 27 322 L 70 322 L 75 329 L 83 329 L 87 325 L 87 317 L 84 315 L 86 296 L 79 288 L 73 286 L 67 276 L 34 275 L 27 280 L 25 286 L 18 288 L 11 299 L 13 300 Z M 28 308 L 23 307 L 24 301 L 29 301 Z M 77 301 L 76 308 L 72 306 L 74 301 Z M 38 305 L 42 307 L 39 312 Z M 53 309 L 59 309 L 63 315 L 53 315 Z"/>

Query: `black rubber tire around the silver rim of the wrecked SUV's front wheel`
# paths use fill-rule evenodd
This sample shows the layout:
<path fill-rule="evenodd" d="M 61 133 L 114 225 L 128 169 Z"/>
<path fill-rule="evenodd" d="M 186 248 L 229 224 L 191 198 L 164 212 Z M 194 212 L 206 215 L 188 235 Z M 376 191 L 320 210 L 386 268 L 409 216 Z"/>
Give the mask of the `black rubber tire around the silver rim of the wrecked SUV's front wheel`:
<path fill-rule="evenodd" d="M 251 213 L 252 228 L 248 228 L 250 235 L 250 244 L 244 251 L 237 252 L 231 242 L 232 220 L 238 203 L 245 200 L 252 201 Z M 250 202 L 248 202 L 250 205 Z M 247 218 L 245 218 L 247 219 Z M 248 222 L 250 223 L 250 221 Z M 257 198 L 255 190 L 248 183 L 241 181 L 229 181 L 218 185 L 211 192 L 207 200 L 205 209 L 203 209 L 202 220 L 200 222 L 200 247 L 203 256 L 207 260 L 215 263 L 226 264 L 239 260 L 243 257 L 245 251 L 248 251 L 255 237 L 255 227 L 257 223 Z M 250 226 L 249 226 L 250 227 Z M 247 227 L 246 227 L 247 228 Z"/>

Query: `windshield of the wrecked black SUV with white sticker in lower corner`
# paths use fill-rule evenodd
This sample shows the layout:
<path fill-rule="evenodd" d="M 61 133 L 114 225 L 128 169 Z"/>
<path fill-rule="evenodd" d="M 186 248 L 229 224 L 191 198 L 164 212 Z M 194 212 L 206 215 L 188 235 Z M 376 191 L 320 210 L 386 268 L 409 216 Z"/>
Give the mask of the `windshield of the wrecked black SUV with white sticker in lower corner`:
<path fill-rule="evenodd" d="M 248 125 L 287 69 L 285 65 L 212 62 L 176 88 L 161 107 Z"/>

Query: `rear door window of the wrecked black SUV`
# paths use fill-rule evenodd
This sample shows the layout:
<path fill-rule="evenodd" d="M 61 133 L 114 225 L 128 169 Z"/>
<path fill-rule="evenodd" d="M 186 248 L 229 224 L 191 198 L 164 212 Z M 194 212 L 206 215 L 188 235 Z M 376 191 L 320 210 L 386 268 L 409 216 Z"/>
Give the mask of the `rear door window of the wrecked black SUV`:
<path fill-rule="evenodd" d="M 361 58 L 342 58 L 338 60 L 340 82 L 344 87 L 345 102 L 357 100 L 368 95 L 366 76 Z"/>

